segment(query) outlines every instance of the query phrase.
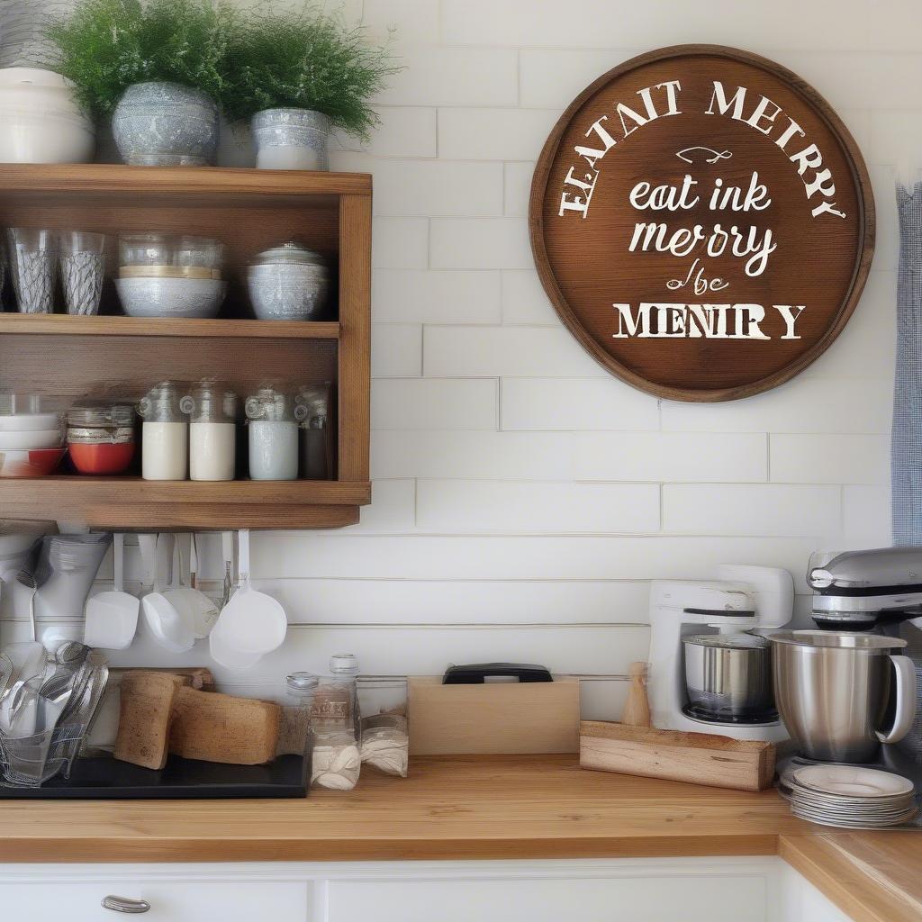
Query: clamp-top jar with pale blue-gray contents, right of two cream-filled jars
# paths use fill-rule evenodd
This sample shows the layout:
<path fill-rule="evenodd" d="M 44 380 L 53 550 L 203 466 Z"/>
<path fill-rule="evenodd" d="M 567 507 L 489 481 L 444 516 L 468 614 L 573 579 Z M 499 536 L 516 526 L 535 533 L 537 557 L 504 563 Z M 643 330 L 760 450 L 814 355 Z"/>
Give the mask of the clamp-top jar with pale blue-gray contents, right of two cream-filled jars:
<path fill-rule="evenodd" d="M 250 478 L 298 479 L 298 423 L 290 394 L 260 387 L 244 404 L 249 430 Z"/>

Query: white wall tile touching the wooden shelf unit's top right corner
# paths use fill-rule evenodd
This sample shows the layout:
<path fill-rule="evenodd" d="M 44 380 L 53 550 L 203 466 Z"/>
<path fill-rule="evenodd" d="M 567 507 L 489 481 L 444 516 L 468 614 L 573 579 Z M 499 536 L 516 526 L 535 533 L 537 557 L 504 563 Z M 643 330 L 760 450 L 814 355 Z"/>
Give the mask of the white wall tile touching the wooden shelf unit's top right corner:
<path fill-rule="evenodd" d="M 502 163 L 376 159 L 344 152 L 337 164 L 372 173 L 375 215 L 502 215 Z"/>

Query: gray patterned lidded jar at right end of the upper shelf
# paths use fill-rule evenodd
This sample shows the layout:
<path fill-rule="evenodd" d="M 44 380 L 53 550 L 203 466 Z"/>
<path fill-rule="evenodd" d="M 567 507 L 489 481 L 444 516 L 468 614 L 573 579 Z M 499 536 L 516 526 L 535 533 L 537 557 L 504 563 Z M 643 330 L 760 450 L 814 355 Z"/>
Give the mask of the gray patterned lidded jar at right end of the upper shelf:
<path fill-rule="evenodd" d="M 247 285 L 260 320 L 317 320 L 326 305 L 329 272 L 323 256 L 292 240 L 257 254 Z"/>

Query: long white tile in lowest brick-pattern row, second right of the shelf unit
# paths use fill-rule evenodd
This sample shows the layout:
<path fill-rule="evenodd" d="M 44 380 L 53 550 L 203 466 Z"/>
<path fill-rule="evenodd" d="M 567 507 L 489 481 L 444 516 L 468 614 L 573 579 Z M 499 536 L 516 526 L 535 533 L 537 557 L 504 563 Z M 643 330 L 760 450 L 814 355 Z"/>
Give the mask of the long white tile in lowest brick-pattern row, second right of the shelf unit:
<path fill-rule="evenodd" d="M 417 524 L 442 533 L 643 533 L 659 527 L 659 491 L 644 484 L 420 480 Z"/>

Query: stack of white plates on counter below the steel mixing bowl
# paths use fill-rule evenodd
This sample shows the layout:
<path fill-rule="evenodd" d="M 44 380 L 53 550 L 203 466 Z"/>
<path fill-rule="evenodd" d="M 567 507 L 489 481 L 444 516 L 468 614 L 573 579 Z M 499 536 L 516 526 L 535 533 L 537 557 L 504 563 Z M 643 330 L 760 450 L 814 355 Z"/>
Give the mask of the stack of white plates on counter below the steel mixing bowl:
<path fill-rule="evenodd" d="M 841 829 L 882 829 L 916 815 L 913 783 L 857 765 L 809 765 L 787 771 L 782 793 L 802 820 Z"/>

